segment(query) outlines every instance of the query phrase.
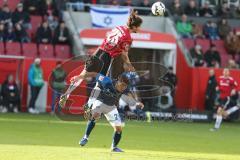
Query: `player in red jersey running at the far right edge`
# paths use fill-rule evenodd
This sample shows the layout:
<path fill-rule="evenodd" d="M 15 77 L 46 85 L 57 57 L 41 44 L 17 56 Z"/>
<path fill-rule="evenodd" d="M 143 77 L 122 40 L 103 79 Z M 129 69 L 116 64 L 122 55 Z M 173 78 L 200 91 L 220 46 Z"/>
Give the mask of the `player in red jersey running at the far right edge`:
<path fill-rule="evenodd" d="M 220 92 L 219 96 L 219 106 L 217 109 L 217 117 L 214 128 L 211 131 L 216 131 L 220 128 L 222 123 L 222 118 L 226 118 L 231 113 L 235 112 L 239 109 L 238 106 L 234 106 L 228 109 L 228 105 L 230 103 L 231 96 L 235 96 L 237 94 L 237 82 L 230 76 L 229 69 L 223 70 L 223 75 L 218 78 L 218 85 L 216 90 Z"/>

